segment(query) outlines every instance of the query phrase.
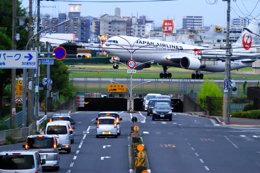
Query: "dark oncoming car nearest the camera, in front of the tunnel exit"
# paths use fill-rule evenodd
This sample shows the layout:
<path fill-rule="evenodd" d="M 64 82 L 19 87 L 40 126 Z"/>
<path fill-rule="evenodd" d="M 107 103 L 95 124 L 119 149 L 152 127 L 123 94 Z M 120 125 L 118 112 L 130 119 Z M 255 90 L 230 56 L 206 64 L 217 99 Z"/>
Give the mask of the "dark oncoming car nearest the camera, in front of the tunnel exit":
<path fill-rule="evenodd" d="M 154 121 L 154 119 L 169 119 L 169 121 L 172 121 L 172 110 L 169 103 L 155 103 L 152 114 L 152 120 Z"/>

